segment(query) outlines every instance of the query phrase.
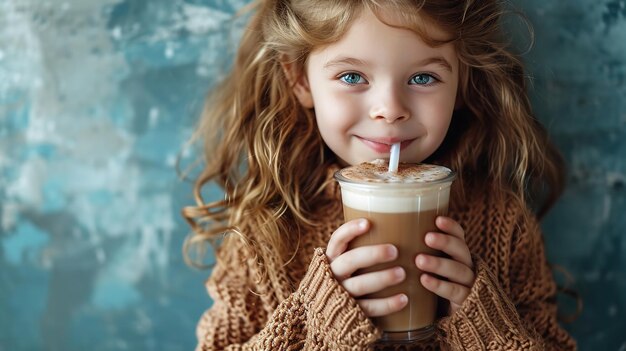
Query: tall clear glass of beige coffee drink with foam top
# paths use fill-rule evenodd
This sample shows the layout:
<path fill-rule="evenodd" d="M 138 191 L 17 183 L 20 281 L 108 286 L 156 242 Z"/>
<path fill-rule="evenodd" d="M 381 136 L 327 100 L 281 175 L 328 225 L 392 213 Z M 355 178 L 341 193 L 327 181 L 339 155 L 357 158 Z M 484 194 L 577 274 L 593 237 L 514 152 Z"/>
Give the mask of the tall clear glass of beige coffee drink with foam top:
<path fill-rule="evenodd" d="M 353 240 L 350 248 L 393 244 L 398 259 L 357 273 L 401 266 L 406 279 L 365 298 L 404 293 L 408 305 L 396 313 L 374 318 L 385 341 L 412 341 L 429 337 L 437 310 L 437 296 L 420 283 L 415 266 L 418 253 L 438 254 L 424 243 L 424 235 L 435 231 L 435 218 L 448 211 L 450 185 L 455 178 L 448 168 L 426 164 L 400 164 L 398 172 L 387 172 L 387 162 L 376 160 L 344 168 L 335 178 L 341 185 L 345 221 L 368 218 L 370 231 Z"/>

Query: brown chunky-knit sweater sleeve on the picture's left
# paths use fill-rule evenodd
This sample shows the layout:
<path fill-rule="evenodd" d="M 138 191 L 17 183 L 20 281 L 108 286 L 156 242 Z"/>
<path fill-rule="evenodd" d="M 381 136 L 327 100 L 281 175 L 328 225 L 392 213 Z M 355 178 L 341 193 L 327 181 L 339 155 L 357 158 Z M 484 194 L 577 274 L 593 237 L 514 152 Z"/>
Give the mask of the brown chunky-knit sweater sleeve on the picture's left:
<path fill-rule="evenodd" d="M 316 249 L 298 289 L 263 318 L 251 281 L 223 274 L 198 323 L 196 350 L 364 350 L 378 332 Z"/>

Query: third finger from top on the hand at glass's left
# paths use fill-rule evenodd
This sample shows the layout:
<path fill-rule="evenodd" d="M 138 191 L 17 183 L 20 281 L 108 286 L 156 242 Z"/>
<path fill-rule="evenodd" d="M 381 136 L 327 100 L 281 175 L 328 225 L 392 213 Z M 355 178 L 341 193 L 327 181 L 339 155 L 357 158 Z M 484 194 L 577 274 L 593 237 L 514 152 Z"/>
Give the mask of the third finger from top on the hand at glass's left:
<path fill-rule="evenodd" d="M 361 274 L 344 280 L 341 285 L 354 297 L 375 293 L 404 280 L 406 273 L 402 267 Z"/>

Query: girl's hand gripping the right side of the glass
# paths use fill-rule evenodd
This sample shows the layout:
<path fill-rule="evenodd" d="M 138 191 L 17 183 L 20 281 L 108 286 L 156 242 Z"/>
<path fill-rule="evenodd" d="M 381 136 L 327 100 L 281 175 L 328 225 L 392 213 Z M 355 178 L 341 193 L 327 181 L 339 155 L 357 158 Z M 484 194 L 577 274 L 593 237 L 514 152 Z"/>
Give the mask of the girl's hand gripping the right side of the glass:
<path fill-rule="evenodd" d="M 465 231 L 455 220 L 439 216 L 435 225 L 442 233 L 427 233 L 426 245 L 440 250 L 450 258 L 419 254 L 415 258 L 417 268 L 425 273 L 420 277 L 424 287 L 450 301 L 450 311 L 456 312 L 474 285 L 474 264 L 465 243 Z M 432 273 L 432 274 L 428 274 Z M 447 280 L 437 278 L 443 277 Z"/>

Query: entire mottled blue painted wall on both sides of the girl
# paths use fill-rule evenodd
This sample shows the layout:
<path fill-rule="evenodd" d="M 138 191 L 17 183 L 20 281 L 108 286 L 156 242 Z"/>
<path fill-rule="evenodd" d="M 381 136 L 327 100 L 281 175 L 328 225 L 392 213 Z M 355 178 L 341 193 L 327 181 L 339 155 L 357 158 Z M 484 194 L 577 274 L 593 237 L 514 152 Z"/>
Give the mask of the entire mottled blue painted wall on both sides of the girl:
<path fill-rule="evenodd" d="M 176 159 L 193 159 L 245 3 L 0 0 L 0 351 L 193 348 L 211 302 L 182 260 Z M 626 1 L 514 3 L 569 168 L 544 223 L 584 300 L 566 328 L 582 350 L 626 350 Z"/>

